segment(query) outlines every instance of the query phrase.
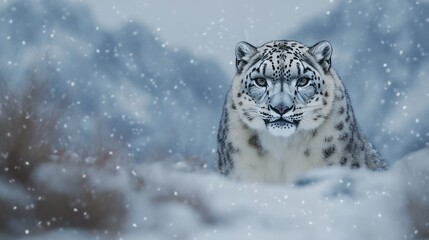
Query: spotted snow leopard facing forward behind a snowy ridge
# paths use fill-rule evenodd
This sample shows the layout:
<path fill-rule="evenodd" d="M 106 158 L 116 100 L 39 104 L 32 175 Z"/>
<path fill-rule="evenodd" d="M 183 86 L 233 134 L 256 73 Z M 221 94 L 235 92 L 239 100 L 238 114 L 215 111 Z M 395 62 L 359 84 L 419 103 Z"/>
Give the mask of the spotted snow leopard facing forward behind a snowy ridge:
<path fill-rule="evenodd" d="M 358 126 L 332 51 L 328 41 L 238 43 L 217 135 L 221 174 L 289 184 L 324 166 L 387 169 Z"/>

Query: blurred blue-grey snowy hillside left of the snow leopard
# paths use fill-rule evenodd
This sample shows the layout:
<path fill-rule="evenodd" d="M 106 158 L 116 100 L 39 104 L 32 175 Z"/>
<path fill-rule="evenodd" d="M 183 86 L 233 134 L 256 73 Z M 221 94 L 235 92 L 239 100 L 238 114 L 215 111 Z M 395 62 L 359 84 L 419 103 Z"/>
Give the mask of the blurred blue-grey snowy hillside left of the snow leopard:
<path fill-rule="evenodd" d="M 58 0 L 0 8 L 0 72 L 10 85 L 29 72 L 73 112 L 61 125 L 84 142 L 101 125 L 144 161 L 212 158 L 227 77 L 215 63 L 169 49 L 144 26 L 103 30 L 88 9 Z M 105 130 L 107 129 L 107 130 Z"/>

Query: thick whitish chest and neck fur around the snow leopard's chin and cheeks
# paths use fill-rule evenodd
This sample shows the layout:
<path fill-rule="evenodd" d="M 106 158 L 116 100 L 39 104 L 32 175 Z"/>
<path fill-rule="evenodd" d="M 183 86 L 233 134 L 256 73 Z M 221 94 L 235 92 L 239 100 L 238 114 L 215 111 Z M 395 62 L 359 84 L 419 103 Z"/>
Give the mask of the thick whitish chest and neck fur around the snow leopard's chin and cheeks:
<path fill-rule="evenodd" d="M 238 77 L 236 76 L 236 78 Z M 329 111 L 332 112 L 340 104 L 333 102 L 335 86 L 338 89 L 344 89 L 344 86 L 333 69 L 330 70 L 330 74 L 325 75 L 325 81 L 326 90 L 330 93 L 327 105 L 331 106 Z M 229 94 L 235 94 L 238 91 L 240 91 L 239 81 L 234 79 L 232 91 Z M 226 106 L 230 106 L 230 104 L 226 104 Z M 308 130 L 315 127 L 314 121 L 311 121 L 306 127 L 307 129 L 298 129 L 292 136 L 285 138 L 274 136 L 267 130 L 256 132 L 257 130 L 244 127 L 239 112 L 232 109 L 229 112 L 230 132 L 228 137 L 235 139 L 233 142 L 240 149 L 240 152 L 236 153 L 234 157 L 231 176 L 254 182 L 288 184 L 307 170 L 327 165 L 323 160 L 322 149 L 324 137 L 335 132 L 333 119 L 328 117 L 317 128 L 316 136 L 313 136 L 313 131 Z M 305 125 L 305 123 L 301 124 Z M 262 157 L 258 154 L 257 149 L 249 146 L 247 142 L 247 139 L 255 133 L 264 149 Z M 237 139 L 241 141 L 237 141 Z M 311 152 L 310 157 L 305 157 L 303 154 L 307 149 Z"/>

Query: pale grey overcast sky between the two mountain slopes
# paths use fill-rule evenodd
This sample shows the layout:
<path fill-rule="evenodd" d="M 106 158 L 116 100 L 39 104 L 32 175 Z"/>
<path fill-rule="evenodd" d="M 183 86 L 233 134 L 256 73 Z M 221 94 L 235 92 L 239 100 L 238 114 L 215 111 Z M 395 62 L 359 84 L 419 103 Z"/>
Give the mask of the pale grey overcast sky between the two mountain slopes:
<path fill-rule="evenodd" d="M 82 2 L 107 28 L 127 21 L 148 26 L 170 48 L 186 48 L 234 72 L 234 48 L 279 39 L 306 20 L 329 14 L 338 0 L 69 0 Z M 299 40 L 299 39 L 296 39 Z"/>

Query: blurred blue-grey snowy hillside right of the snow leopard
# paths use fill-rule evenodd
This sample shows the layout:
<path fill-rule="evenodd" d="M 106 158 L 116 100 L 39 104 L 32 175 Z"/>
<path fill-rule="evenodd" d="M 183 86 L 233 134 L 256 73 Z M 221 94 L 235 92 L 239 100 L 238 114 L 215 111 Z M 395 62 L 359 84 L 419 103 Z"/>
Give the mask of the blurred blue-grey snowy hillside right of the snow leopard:
<path fill-rule="evenodd" d="M 429 143 L 428 16 L 428 1 L 341 1 L 285 36 L 332 43 L 360 125 L 389 161 Z"/>

